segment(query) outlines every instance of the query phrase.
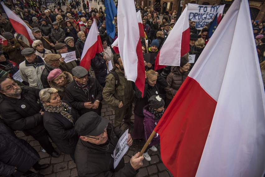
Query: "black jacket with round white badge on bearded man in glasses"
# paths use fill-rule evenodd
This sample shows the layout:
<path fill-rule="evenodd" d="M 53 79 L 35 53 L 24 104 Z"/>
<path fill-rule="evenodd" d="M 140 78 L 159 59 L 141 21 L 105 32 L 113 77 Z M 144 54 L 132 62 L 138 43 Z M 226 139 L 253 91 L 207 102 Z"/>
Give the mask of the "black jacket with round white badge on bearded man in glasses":
<path fill-rule="evenodd" d="M 0 114 L 13 130 L 23 130 L 30 135 L 45 132 L 43 117 L 39 113 L 40 89 L 21 87 L 21 99 L 0 94 Z"/>

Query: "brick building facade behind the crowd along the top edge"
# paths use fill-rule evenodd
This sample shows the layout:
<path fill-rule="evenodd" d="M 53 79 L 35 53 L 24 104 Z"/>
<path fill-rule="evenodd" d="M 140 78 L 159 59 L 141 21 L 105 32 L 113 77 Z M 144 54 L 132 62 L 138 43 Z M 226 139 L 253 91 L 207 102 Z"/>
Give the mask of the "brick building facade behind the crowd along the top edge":
<path fill-rule="evenodd" d="M 155 2 L 161 3 L 162 6 L 164 3 L 166 3 L 166 7 L 172 12 L 173 10 L 178 11 L 179 3 L 183 3 L 183 6 L 179 8 L 182 11 L 184 10 L 185 4 L 188 3 L 196 3 L 201 5 L 225 4 L 225 11 L 227 11 L 233 0 L 135 0 L 135 2 L 138 6 L 143 5 L 148 9 L 151 9 Z M 265 0 L 249 1 L 249 8 L 252 20 L 259 20 L 260 22 L 265 20 Z"/>

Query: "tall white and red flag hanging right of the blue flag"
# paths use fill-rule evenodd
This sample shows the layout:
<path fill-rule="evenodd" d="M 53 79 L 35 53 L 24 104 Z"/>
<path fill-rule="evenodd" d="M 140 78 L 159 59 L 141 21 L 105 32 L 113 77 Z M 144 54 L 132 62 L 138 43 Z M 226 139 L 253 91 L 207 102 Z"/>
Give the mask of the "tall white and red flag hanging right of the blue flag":
<path fill-rule="evenodd" d="M 118 3 L 118 45 L 125 77 L 135 82 L 144 91 L 145 70 L 142 44 L 133 0 L 119 0 Z"/>

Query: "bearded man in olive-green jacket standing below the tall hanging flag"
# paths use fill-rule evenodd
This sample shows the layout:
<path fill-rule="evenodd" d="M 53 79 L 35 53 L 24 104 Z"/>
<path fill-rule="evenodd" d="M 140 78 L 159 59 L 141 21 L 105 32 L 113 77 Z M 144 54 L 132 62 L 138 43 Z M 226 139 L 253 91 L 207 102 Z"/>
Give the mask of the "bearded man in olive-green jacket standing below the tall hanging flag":
<path fill-rule="evenodd" d="M 132 87 L 132 82 L 125 78 L 123 63 L 120 54 L 114 54 L 113 71 L 119 77 L 119 85 L 115 88 L 114 74 L 109 74 L 106 77 L 106 85 L 103 89 L 103 98 L 115 111 L 114 127 L 120 127 L 124 118 L 124 122 L 133 127 L 133 122 L 130 120 L 132 116 L 133 100 L 135 91 Z"/>

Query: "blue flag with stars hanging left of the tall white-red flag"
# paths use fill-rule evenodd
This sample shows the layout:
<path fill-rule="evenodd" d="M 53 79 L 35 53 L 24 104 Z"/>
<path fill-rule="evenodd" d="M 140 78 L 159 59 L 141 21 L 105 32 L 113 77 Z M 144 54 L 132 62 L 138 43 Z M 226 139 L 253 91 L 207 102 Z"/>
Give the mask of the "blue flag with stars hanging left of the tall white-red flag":
<path fill-rule="evenodd" d="M 105 0 L 104 5 L 107 35 L 113 39 L 115 37 L 114 17 L 117 15 L 117 9 L 113 0 Z"/>

